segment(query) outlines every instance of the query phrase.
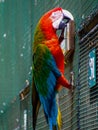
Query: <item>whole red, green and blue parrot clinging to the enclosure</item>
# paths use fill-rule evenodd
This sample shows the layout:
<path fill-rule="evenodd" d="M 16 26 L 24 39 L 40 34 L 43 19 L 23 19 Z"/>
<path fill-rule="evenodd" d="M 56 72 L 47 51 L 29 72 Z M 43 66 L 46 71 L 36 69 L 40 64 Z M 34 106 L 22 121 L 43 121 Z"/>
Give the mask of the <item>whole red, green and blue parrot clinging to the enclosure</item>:
<path fill-rule="evenodd" d="M 61 41 L 64 29 L 73 20 L 72 14 L 61 7 L 46 12 L 38 21 L 32 45 L 32 118 L 36 129 L 40 106 L 43 107 L 50 130 L 59 129 L 60 110 L 56 95 L 65 87 L 71 90 L 71 83 L 64 76 L 64 54 Z M 57 30 L 61 30 L 58 36 Z"/>

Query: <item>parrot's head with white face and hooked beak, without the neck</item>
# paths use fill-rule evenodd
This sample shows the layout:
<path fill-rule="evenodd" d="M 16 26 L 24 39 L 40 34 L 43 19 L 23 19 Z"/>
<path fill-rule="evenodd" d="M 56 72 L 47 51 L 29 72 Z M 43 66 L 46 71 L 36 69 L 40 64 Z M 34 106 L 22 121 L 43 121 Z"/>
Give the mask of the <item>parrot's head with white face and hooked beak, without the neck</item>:
<path fill-rule="evenodd" d="M 54 8 L 45 13 L 41 18 L 41 25 L 43 29 L 59 30 L 66 27 L 69 20 L 74 20 L 72 14 L 60 7 Z"/>

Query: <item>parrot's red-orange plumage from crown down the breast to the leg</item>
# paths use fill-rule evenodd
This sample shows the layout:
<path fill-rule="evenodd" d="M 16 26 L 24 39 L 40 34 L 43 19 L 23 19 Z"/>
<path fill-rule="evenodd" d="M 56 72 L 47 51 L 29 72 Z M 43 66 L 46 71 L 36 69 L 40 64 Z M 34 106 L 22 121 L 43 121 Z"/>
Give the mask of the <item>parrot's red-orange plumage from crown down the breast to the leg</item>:
<path fill-rule="evenodd" d="M 56 65 L 60 70 L 60 72 L 62 73 L 62 76 L 58 78 L 56 89 L 59 90 L 61 88 L 61 85 L 70 89 L 71 85 L 64 77 L 64 55 L 60 47 L 60 41 L 56 34 L 56 29 L 54 29 L 53 26 L 51 26 L 52 20 L 50 16 L 55 11 L 62 11 L 62 8 L 55 8 L 53 10 L 50 10 L 48 13 L 46 13 L 40 19 L 40 29 L 43 32 L 45 37 L 45 39 L 43 40 L 43 44 L 47 45 L 47 47 L 51 51 L 55 59 Z"/>

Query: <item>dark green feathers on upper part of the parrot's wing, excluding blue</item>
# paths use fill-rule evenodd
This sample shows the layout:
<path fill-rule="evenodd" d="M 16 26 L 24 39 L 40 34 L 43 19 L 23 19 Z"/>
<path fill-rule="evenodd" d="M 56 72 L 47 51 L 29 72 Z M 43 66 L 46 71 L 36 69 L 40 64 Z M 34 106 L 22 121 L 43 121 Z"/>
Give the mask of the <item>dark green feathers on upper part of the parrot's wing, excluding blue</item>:
<path fill-rule="evenodd" d="M 43 44 L 37 45 L 33 55 L 33 75 L 38 91 L 44 96 L 47 95 L 48 92 L 46 81 L 50 73 L 50 67 L 47 65 L 47 60 L 50 58 L 49 49 Z"/>

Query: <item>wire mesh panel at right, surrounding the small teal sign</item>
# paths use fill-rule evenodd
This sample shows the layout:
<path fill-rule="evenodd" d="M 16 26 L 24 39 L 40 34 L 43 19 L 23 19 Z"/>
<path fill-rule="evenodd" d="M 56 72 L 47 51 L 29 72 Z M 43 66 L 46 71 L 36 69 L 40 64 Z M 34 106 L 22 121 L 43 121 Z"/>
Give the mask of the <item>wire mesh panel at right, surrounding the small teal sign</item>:
<path fill-rule="evenodd" d="M 80 130 L 98 129 L 98 25 L 80 40 L 80 97 L 79 121 Z M 93 42 L 93 45 L 91 45 Z M 90 88 L 88 84 L 89 51 L 96 48 L 97 83 Z"/>

